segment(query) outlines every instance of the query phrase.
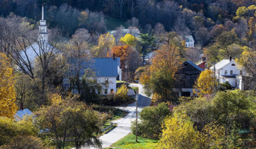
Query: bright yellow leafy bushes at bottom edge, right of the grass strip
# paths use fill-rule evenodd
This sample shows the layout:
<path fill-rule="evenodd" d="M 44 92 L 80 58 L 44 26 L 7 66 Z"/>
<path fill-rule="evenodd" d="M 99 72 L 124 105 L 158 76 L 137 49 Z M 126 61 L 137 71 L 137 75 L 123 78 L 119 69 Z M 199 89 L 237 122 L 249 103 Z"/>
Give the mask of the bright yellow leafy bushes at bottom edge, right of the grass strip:
<path fill-rule="evenodd" d="M 194 128 L 187 114 L 174 113 L 162 125 L 158 148 L 224 148 L 225 129 L 215 122 L 208 123 L 202 131 Z"/>

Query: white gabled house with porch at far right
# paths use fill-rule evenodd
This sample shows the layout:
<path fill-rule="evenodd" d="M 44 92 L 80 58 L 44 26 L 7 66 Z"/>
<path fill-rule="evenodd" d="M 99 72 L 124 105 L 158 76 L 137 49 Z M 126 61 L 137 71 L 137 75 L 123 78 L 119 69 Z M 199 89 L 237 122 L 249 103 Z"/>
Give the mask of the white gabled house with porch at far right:
<path fill-rule="evenodd" d="M 232 87 L 244 90 L 242 76 L 246 75 L 246 72 L 231 57 L 230 60 L 222 60 L 210 69 L 215 71 L 219 83 L 229 82 Z"/>

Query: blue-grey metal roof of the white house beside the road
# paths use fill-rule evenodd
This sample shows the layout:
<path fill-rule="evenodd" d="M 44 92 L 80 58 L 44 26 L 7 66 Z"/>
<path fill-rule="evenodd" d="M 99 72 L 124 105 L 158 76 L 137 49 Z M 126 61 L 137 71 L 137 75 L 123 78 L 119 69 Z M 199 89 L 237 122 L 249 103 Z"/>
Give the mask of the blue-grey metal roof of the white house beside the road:
<path fill-rule="evenodd" d="M 92 68 L 94 68 L 97 77 L 117 77 L 118 66 L 120 66 L 120 57 L 115 57 L 115 60 L 113 60 L 113 57 L 94 58 Z"/>

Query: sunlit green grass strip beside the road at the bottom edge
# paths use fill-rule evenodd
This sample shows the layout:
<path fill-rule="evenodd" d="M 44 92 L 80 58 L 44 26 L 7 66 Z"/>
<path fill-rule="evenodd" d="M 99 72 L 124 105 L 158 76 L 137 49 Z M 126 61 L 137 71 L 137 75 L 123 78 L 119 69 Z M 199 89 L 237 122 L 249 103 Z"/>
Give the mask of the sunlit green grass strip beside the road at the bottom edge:
<path fill-rule="evenodd" d="M 122 146 L 127 145 L 128 143 L 146 145 L 147 142 L 156 143 L 159 140 L 151 140 L 143 137 L 138 136 L 138 142 L 136 142 L 136 136 L 134 134 L 128 134 L 127 136 L 123 137 L 121 140 L 115 142 L 111 147 L 121 149 Z M 108 147 L 110 149 L 111 147 Z"/>

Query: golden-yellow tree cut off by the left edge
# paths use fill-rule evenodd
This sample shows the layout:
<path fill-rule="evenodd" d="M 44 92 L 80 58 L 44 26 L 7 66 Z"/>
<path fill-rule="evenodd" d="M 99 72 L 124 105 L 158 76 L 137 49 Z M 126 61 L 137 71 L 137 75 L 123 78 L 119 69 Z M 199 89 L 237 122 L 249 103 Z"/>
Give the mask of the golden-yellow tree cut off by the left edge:
<path fill-rule="evenodd" d="M 17 111 L 15 75 L 7 56 L 0 53 L 0 117 L 10 117 Z"/>

